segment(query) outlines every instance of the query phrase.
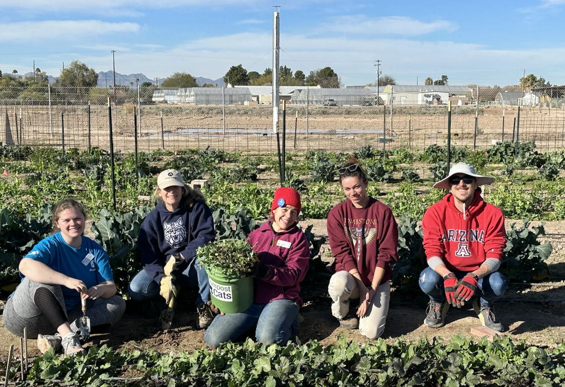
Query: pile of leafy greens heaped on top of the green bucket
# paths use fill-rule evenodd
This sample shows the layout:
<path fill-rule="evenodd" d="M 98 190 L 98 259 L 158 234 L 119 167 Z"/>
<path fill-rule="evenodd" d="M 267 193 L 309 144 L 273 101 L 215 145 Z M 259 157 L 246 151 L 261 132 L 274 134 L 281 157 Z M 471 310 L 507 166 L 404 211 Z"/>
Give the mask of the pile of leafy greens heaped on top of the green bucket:
<path fill-rule="evenodd" d="M 258 260 L 253 246 L 246 240 L 223 239 L 198 247 L 200 264 L 206 268 L 220 270 L 226 276 L 250 273 Z"/>

